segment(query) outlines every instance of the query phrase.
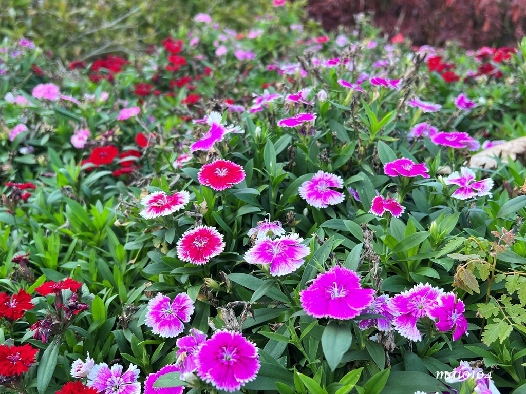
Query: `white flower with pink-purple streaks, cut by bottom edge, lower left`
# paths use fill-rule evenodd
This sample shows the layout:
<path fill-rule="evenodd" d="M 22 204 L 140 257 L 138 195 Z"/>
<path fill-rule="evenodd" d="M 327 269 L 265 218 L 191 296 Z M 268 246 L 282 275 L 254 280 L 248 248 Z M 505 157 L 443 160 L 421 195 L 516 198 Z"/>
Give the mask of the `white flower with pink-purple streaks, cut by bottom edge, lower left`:
<path fill-rule="evenodd" d="M 100 394 L 141 394 L 137 382 L 139 370 L 130 364 L 123 374 L 123 366 L 114 364 L 109 369 L 105 362 L 93 366 L 89 371 L 87 386 L 93 387 Z"/>

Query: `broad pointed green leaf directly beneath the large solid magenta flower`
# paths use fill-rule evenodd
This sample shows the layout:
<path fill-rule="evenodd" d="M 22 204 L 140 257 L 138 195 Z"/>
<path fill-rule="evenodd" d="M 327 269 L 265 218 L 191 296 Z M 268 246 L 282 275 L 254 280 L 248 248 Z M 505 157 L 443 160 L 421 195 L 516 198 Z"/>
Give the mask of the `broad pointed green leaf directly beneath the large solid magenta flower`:
<path fill-rule="evenodd" d="M 340 364 L 341 358 L 352 344 L 351 329 L 346 324 L 338 324 L 331 320 L 323 330 L 321 348 L 331 371 Z"/>

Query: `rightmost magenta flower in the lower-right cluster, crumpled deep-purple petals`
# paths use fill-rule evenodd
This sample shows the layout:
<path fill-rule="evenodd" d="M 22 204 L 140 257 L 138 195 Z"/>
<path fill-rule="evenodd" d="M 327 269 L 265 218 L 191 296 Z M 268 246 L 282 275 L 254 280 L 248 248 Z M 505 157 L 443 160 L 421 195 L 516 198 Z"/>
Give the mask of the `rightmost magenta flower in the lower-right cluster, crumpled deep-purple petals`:
<path fill-rule="evenodd" d="M 430 318 L 438 319 L 435 325 L 439 331 L 449 331 L 454 328 L 453 340 L 468 333 L 468 320 L 464 317 L 466 308 L 461 299 L 455 300 L 455 298 L 453 293 L 439 296 L 436 305 L 428 312 Z"/>

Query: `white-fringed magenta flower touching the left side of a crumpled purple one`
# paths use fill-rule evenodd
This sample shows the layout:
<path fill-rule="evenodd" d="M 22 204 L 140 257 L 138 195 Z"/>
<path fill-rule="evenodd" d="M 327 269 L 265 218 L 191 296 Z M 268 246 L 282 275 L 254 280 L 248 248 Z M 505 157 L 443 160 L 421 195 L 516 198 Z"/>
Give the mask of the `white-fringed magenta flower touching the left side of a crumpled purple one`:
<path fill-rule="evenodd" d="M 393 320 L 398 333 L 412 341 L 422 340 L 422 334 L 417 328 L 417 320 L 420 317 L 429 317 L 430 309 L 442 294 L 444 294 L 442 289 L 431 287 L 429 283 L 425 285 L 420 283 L 393 297 L 391 308 L 399 314 Z"/>

